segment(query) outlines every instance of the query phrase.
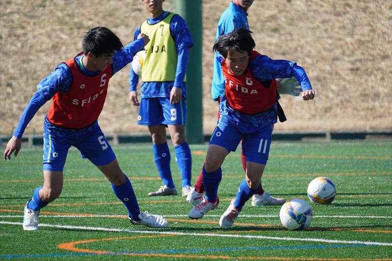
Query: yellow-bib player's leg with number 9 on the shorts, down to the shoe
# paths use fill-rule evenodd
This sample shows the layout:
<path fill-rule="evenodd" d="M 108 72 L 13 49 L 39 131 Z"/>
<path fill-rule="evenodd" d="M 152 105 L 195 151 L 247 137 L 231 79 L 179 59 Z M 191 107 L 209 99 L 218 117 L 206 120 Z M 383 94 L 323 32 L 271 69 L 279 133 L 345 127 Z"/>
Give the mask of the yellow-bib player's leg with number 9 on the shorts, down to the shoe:
<path fill-rule="evenodd" d="M 174 104 L 170 104 L 169 98 L 160 98 L 160 101 L 165 117 L 164 124 L 168 125 L 176 163 L 181 173 L 182 196 L 187 196 L 191 190 L 192 155 L 185 138 L 186 101 L 184 98 Z"/>

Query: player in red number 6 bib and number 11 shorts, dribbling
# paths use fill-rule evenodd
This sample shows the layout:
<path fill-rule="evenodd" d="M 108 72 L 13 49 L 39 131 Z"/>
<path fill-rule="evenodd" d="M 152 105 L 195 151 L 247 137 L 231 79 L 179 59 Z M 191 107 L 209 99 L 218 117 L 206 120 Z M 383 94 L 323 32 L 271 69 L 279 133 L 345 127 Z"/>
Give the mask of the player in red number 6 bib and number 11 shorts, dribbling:
<path fill-rule="evenodd" d="M 311 100 L 315 91 L 302 67 L 285 60 L 272 60 L 253 50 L 255 42 L 245 28 L 220 36 L 214 50 L 220 54 L 225 81 L 221 98 L 221 118 L 215 128 L 203 166 L 205 198 L 189 212 L 190 218 L 201 218 L 218 203 L 218 186 L 222 178 L 221 164 L 242 140 L 246 158 L 246 175 L 238 193 L 222 214 L 219 225 L 233 225 L 245 202 L 259 189 L 267 164 L 273 125 L 279 116 L 284 121 L 278 103 L 276 78 L 295 77 L 302 88 L 302 99 Z"/>

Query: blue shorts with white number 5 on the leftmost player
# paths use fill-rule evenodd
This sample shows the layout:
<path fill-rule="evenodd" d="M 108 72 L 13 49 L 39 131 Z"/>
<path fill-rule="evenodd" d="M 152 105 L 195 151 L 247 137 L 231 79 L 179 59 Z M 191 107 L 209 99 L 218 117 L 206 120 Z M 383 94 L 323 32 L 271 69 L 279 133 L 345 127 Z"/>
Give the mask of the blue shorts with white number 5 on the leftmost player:
<path fill-rule="evenodd" d="M 63 171 L 68 149 L 76 147 L 83 159 L 95 166 L 104 166 L 116 159 L 112 147 L 103 135 L 98 121 L 83 129 L 56 127 L 45 116 L 44 170 Z"/>

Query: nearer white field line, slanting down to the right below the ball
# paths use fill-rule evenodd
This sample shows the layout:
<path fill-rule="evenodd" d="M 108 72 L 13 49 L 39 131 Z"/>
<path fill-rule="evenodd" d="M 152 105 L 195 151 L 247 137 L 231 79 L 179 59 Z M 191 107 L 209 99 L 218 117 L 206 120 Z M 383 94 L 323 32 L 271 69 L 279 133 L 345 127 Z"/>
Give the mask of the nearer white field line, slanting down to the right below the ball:
<path fill-rule="evenodd" d="M 6 222 L 0 221 L 0 224 L 18 225 L 21 222 Z M 212 234 L 212 233 L 183 233 L 175 231 L 152 231 L 152 230 L 131 230 L 131 229 L 118 229 L 118 228 L 100 228 L 100 227 L 81 227 L 69 225 L 53 225 L 53 224 L 39 224 L 40 227 L 54 227 L 70 230 L 87 230 L 87 231 L 105 231 L 105 232 L 128 232 L 140 234 L 162 234 L 162 235 L 178 235 L 178 236 L 195 236 L 195 237 L 235 237 L 235 238 L 258 238 L 258 239 L 271 239 L 271 240 L 287 240 L 287 241 L 308 241 L 308 242 L 324 242 L 324 243 L 341 243 L 341 244 L 364 244 L 364 245 L 377 245 L 377 246 L 392 246 L 392 243 L 384 242 L 371 242 L 371 241 L 351 241 L 351 240 L 335 240 L 323 238 L 299 238 L 299 237 L 266 237 L 266 236 L 252 236 L 252 235 L 231 235 L 231 234 Z"/>

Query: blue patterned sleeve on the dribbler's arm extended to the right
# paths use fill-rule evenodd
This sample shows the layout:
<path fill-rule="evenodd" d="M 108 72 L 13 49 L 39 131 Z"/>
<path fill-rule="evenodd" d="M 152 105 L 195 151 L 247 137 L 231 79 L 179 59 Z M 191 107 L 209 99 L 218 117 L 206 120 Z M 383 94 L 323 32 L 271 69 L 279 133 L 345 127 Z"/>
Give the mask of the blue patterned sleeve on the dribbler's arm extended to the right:
<path fill-rule="evenodd" d="M 250 63 L 250 70 L 261 81 L 294 76 L 302 91 L 312 90 L 312 85 L 305 70 L 291 61 L 272 60 L 266 55 L 259 55 Z"/>

